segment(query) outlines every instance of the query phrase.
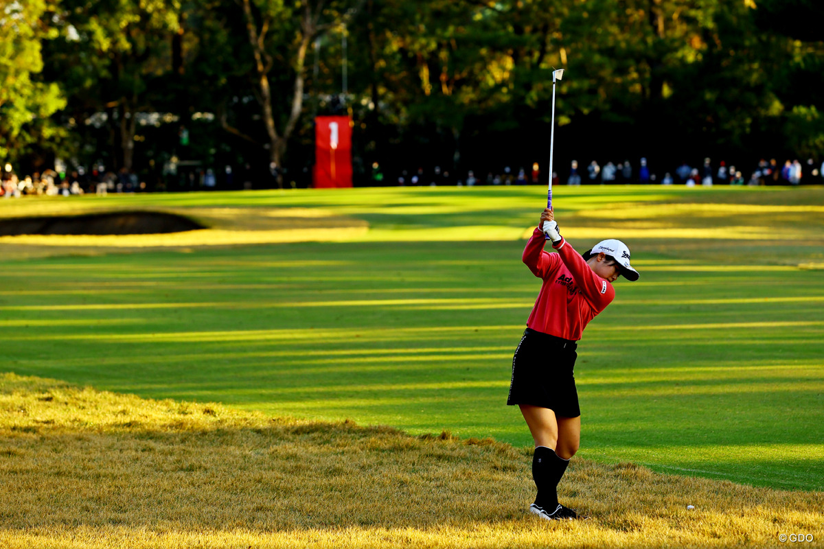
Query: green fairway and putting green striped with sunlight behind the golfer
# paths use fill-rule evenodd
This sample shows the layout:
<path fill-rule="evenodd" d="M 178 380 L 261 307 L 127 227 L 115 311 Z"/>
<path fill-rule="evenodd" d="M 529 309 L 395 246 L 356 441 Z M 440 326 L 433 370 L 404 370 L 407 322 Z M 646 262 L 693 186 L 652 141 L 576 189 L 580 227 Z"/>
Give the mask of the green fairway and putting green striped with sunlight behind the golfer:
<path fill-rule="evenodd" d="M 578 455 L 824 490 L 824 191 L 561 188 L 555 196 L 577 249 L 624 238 L 642 273 L 616 284 L 616 301 L 579 347 Z M 504 404 L 540 287 L 520 261 L 520 237 L 541 201 L 537 188 L 44 201 L 192 215 L 313 207 L 371 230 L 349 242 L 6 260 L 2 370 L 528 444 L 517 408 Z M 3 215 L 23 207 L 5 202 Z M 476 238 L 484 240 L 467 240 Z M 23 245 L 0 240 L 3 250 Z"/>

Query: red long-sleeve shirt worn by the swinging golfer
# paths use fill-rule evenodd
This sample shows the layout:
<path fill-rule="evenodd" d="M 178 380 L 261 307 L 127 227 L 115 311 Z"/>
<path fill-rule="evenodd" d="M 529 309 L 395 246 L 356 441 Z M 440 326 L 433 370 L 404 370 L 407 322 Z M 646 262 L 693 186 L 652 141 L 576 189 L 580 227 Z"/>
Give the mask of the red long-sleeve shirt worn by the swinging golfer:
<path fill-rule="evenodd" d="M 545 252 L 545 243 L 544 233 L 536 227 L 523 249 L 523 263 L 544 281 L 527 327 L 578 341 L 589 321 L 615 299 L 615 288 L 595 274 L 563 238 L 552 244 L 557 254 Z"/>

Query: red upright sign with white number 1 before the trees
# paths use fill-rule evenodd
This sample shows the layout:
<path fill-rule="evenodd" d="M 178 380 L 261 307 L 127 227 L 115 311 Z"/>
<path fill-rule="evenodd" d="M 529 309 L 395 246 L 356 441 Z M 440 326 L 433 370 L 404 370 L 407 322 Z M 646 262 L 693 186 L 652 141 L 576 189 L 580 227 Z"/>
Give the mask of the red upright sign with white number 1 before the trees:
<path fill-rule="evenodd" d="M 348 116 L 315 119 L 315 188 L 352 186 L 352 125 Z"/>

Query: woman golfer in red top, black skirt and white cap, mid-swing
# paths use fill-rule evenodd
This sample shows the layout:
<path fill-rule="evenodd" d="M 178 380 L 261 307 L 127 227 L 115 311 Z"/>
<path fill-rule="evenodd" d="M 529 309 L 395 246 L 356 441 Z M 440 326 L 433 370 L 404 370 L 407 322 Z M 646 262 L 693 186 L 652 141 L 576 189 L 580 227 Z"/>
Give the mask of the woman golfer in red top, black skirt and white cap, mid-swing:
<path fill-rule="evenodd" d="M 557 254 L 544 251 L 552 241 Z M 543 519 L 577 519 L 558 503 L 558 482 L 578 451 L 581 410 L 573 367 L 576 343 L 587 323 L 615 297 L 612 282 L 623 275 L 638 280 L 630 249 L 620 240 L 603 240 L 578 254 L 559 234 L 550 208 L 523 250 L 523 263 L 544 283 L 513 357 L 507 404 L 521 408 L 535 440 L 532 477 L 538 488 L 529 510 Z"/>

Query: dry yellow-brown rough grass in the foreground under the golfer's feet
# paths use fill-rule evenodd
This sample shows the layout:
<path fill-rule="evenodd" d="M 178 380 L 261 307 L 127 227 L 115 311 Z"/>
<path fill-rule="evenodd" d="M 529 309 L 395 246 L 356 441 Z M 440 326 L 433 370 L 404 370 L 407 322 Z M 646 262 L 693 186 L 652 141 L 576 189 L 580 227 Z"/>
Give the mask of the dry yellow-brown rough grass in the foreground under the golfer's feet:
<path fill-rule="evenodd" d="M 574 459 L 527 514 L 530 449 L 0 376 L 0 547 L 824 547 L 824 493 Z M 695 505 L 687 510 L 686 505 Z"/>

